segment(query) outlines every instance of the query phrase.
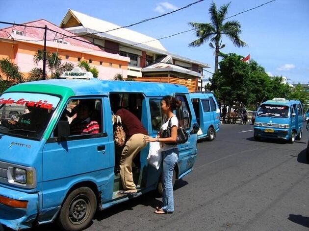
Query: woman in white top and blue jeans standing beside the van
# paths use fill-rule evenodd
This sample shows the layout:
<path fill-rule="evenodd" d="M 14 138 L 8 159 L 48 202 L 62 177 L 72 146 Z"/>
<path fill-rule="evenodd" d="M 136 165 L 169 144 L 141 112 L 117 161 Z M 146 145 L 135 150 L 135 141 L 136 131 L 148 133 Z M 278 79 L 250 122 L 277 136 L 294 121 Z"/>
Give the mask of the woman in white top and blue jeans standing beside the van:
<path fill-rule="evenodd" d="M 160 136 L 168 127 L 171 128 L 171 136 L 168 138 L 145 137 L 146 142 L 160 142 L 162 144 L 162 185 L 163 185 L 163 207 L 156 208 L 154 213 L 165 214 L 174 211 L 174 195 L 173 195 L 173 171 L 178 161 L 179 150 L 175 144 L 177 140 L 178 119 L 173 111 L 179 108 L 180 101 L 177 101 L 173 96 L 165 96 L 161 101 L 161 110 L 166 115 L 165 123 L 161 126 Z"/>

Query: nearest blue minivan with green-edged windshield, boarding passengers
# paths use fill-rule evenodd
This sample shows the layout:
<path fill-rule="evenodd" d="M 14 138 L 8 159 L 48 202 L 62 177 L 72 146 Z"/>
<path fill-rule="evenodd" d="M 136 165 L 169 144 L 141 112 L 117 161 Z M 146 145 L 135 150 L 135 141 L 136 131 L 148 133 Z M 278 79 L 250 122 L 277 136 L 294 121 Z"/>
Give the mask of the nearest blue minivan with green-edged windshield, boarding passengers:
<path fill-rule="evenodd" d="M 98 79 L 52 79 L 15 85 L 0 95 L 0 224 L 21 230 L 57 221 L 64 230 L 87 227 L 96 210 L 160 189 L 161 168 L 147 162 L 149 145 L 133 160 L 137 195 L 119 194 L 119 154 L 115 146 L 110 99 L 136 115 L 150 136 L 163 121 L 160 101 L 174 95 L 175 111 L 190 137 L 179 145 L 173 180 L 192 171 L 197 157 L 195 112 L 188 89 L 181 85 Z M 70 135 L 72 109 L 87 101 L 98 134 Z M 12 122 L 5 108 L 12 104 L 29 112 Z M 74 114 L 74 113 L 73 113 Z M 71 117 L 69 117 L 71 116 Z M 32 120 L 29 120 L 32 118 Z M 10 122 L 9 122 L 10 121 Z M 12 127 L 12 124 L 22 124 Z"/>

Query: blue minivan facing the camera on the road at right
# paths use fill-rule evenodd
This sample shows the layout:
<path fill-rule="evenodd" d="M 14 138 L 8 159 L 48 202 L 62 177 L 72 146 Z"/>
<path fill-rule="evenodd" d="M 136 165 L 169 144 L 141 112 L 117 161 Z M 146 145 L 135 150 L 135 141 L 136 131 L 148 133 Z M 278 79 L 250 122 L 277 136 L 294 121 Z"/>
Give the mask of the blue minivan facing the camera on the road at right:
<path fill-rule="evenodd" d="M 262 103 L 254 123 L 254 139 L 302 139 L 303 107 L 299 100 L 274 98 Z"/>

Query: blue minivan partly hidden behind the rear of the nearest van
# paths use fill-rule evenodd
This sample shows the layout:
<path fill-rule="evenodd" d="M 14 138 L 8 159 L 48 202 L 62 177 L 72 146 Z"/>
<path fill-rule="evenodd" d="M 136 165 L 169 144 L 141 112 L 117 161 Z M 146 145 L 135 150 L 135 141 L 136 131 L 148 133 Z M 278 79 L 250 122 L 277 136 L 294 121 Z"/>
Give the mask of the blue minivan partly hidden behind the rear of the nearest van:
<path fill-rule="evenodd" d="M 198 139 L 212 141 L 220 129 L 220 109 L 215 96 L 212 92 L 193 92 L 190 98 L 200 125 Z"/>

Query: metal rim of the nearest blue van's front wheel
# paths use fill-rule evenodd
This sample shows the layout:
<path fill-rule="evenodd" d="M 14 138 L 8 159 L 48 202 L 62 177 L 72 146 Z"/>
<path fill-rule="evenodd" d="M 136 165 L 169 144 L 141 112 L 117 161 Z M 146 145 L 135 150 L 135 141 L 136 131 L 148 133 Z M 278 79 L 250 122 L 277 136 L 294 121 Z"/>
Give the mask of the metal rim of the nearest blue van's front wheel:
<path fill-rule="evenodd" d="M 69 219 L 72 224 L 79 225 L 89 216 L 90 201 L 84 195 L 78 195 L 70 204 Z"/>

